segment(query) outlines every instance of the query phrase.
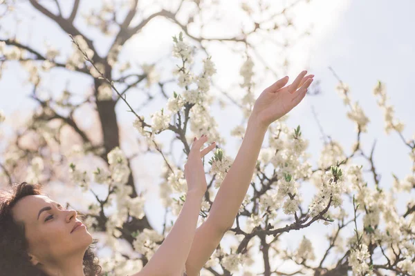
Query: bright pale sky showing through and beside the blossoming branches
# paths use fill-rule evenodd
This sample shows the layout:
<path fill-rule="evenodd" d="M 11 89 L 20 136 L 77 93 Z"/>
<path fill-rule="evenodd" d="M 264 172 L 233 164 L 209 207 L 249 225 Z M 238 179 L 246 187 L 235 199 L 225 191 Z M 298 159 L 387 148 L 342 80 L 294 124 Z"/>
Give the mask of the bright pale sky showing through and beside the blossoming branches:
<path fill-rule="evenodd" d="M 227 0 L 222 3 L 226 3 L 225 8 L 229 11 L 234 2 L 238 1 Z M 146 1 L 142 1 L 142 3 L 145 5 Z M 395 106 L 396 117 L 406 124 L 403 136 L 406 139 L 412 137 L 415 134 L 415 124 L 413 123 L 415 96 L 411 82 L 413 79 L 411 74 L 414 73 L 413 64 L 415 63 L 413 50 L 415 37 L 409 34 L 413 32 L 411 27 L 414 26 L 413 10 L 415 10 L 415 2 L 411 0 L 402 0 L 394 2 L 394 4 L 387 0 L 313 0 L 308 6 L 299 7 L 297 10 L 297 16 L 294 18 L 295 26 L 302 30 L 313 23 L 314 29 L 311 31 L 313 37 L 304 39 L 302 43 L 291 48 L 290 59 L 293 64 L 288 75 L 292 81 L 301 70 L 307 69 L 308 72 L 315 75 L 315 82 L 316 80 L 320 81 L 322 94 L 317 97 L 306 97 L 299 106 L 290 112 L 288 126 L 295 128 L 299 124 L 302 128 L 302 135 L 310 140 L 308 152 L 312 155 L 313 165 L 319 157 L 322 139 L 311 111 L 312 107 L 317 112 L 325 134 L 340 141 L 347 155 L 351 152 L 351 145 L 356 141 L 355 125 L 346 116 L 349 109 L 343 105 L 342 99 L 335 92 L 338 81 L 329 70 L 329 66 L 331 66 L 342 81 L 349 84 L 352 101 L 358 101 L 371 120 L 368 133 L 362 136 L 362 144 L 365 152 L 369 154 L 374 139 L 377 141 L 374 156 L 376 168 L 382 176 L 380 186 L 387 189 L 391 186 L 392 172 L 400 179 L 409 174 L 411 168 L 409 150 L 395 132 L 391 132 L 389 136 L 385 134 L 382 110 L 376 104 L 377 99 L 372 94 L 372 89 L 378 80 L 386 83 L 389 103 Z M 46 21 L 37 22 L 42 25 L 47 23 Z M 39 32 L 39 35 L 33 35 L 32 39 L 42 43 L 43 37 L 48 37 L 50 41 L 67 38 L 62 35 L 62 32 L 58 32 L 57 28 L 50 25 L 48 28 L 49 32 L 54 34 L 53 36 L 48 35 L 49 32 Z M 38 29 L 33 27 L 33 31 L 36 30 Z M 213 30 L 215 36 L 219 36 L 221 30 L 223 30 L 222 26 L 216 26 L 216 29 Z M 169 55 L 172 48 L 172 36 L 178 32 L 180 30 L 176 26 L 172 26 L 169 21 L 155 19 L 135 39 L 129 41 L 126 53 L 123 55 L 129 55 L 133 61 L 139 63 L 154 61 L 160 56 Z M 154 47 L 155 45 L 157 47 Z M 208 50 L 210 50 L 210 54 L 213 56 L 212 60 L 218 69 L 214 79 L 230 95 L 235 98 L 241 97 L 242 91 L 237 86 L 236 89 L 232 89 L 236 83 L 241 81 L 238 76 L 240 59 L 232 56 L 229 51 L 218 45 L 212 45 Z M 279 66 L 282 63 L 281 55 L 273 51 L 272 44 L 264 43 L 263 48 L 259 48 L 258 51 L 261 52 L 262 58 L 268 62 L 268 65 L 280 74 L 279 77 L 284 77 L 286 72 L 282 71 Z M 143 55 L 144 53 L 145 55 Z M 196 62 L 200 62 L 200 60 L 199 57 Z M 20 79 L 24 74 L 16 70 L 17 66 L 12 65 L 9 68 L 10 70 L 3 72 L 3 78 L 0 80 L 0 108 L 5 110 L 6 115 L 10 115 L 22 107 L 33 106 L 33 102 L 26 97 L 30 93 L 28 86 L 21 89 Z M 275 81 L 275 77 L 272 75 L 257 72 L 257 77 L 262 75 L 265 77 L 259 82 L 255 91 L 256 95 L 259 95 L 264 88 Z M 58 76 L 54 75 L 54 77 Z M 50 77 L 50 80 L 52 81 L 54 77 Z M 82 79 L 80 82 L 82 83 Z M 53 88 L 57 91 L 61 91 L 64 85 L 65 83 L 53 82 Z M 70 83 L 70 86 L 73 90 L 81 88 L 80 85 L 74 83 Z M 79 91 L 80 94 L 83 92 L 84 90 Z M 212 92 L 215 91 L 212 90 Z M 139 101 L 139 97 L 140 95 L 131 95 L 127 99 L 134 102 L 135 100 Z M 156 109 L 160 109 L 164 104 L 165 102 L 160 101 L 154 103 L 154 106 L 158 106 Z M 123 104 L 119 104 L 117 108 L 118 119 L 128 128 L 131 126 L 133 117 L 129 112 L 124 112 L 127 108 Z M 227 108 L 226 110 L 212 108 L 212 112 L 217 116 L 216 121 L 219 121 L 219 129 L 228 141 L 224 147 L 225 152 L 234 158 L 240 142 L 230 137 L 229 131 L 240 124 L 241 114 L 236 108 Z M 228 120 L 219 120 L 219 117 L 226 117 Z M 209 158 L 210 155 L 208 155 Z M 149 155 L 138 157 L 135 164 L 140 166 L 142 171 L 137 172 L 137 176 L 140 178 L 140 190 L 144 188 L 149 190 L 147 196 L 149 200 L 145 206 L 147 214 L 150 214 L 149 220 L 154 228 L 161 230 L 163 227 L 163 207 L 158 201 L 157 185 L 160 166 L 146 166 L 146 164 L 150 164 L 149 161 L 161 162 L 162 160 Z M 356 160 L 356 163 L 360 164 L 360 162 L 367 168 L 367 163 L 364 160 Z M 365 174 L 365 177 L 369 185 L 373 186 L 371 175 Z M 304 188 L 304 193 L 308 189 Z M 410 196 L 414 195 L 399 195 L 398 198 L 403 200 L 400 200 L 398 210 L 402 211 L 405 208 L 405 202 Z M 66 200 L 66 197 L 62 197 L 61 201 Z M 325 239 L 321 233 L 328 229 L 329 226 L 313 224 L 306 230 L 285 235 L 281 244 L 282 246 L 291 244 L 291 248 L 294 249 L 293 244 L 297 244 L 302 235 L 306 235 L 313 242 L 313 246 L 326 248 L 326 242 L 324 242 Z M 225 237 L 225 239 L 227 238 Z M 322 255 L 322 251 L 316 250 L 316 255 L 318 259 Z M 286 271 L 289 269 L 286 265 L 281 266 L 280 269 L 284 268 Z"/>

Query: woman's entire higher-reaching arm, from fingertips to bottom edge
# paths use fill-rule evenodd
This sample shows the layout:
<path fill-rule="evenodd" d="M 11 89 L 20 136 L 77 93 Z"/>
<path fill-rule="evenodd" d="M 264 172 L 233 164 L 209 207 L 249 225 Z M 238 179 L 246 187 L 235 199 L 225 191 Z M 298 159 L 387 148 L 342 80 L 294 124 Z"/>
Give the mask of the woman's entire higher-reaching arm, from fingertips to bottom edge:
<path fill-rule="evenodd" d="M 266 88 L 255 101 L 248 120 L 241 148 L 214 199 L 208 219 L 196 229 L 190 255 L 186 261 L 188 276 L 196 276 L 210 259 L 223 235 L 232 227 L 239 207 L 248 191 L 250 180 L 268 126 L 284 116 L 304 98 L 313 75 L 303 71 L 290 85 L 288 77 L 279 79 Z M 299 90 L 297 91 L 297 88 Z"/>

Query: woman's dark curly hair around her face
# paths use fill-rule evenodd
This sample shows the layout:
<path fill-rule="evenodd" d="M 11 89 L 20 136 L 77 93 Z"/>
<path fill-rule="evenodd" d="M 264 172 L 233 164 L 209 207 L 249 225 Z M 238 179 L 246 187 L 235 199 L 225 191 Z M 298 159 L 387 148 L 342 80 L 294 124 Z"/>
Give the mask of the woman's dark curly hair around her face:
<path fill-rule="evenodd" d="M 12 207 L 27 195 L 43 195 L 42 186 L 21 182 L 12 184 L 10 190 L 0 190 L 0 276 L 48 276 L 30 262 L 24 225 L 17 224 L 12 218 Z M 97 242 L 98 239 L 93 239 L 92 244 Z M 98 264 L 98 257 L 91 248 L 95 247 L 88 247 L 82 262 L 84 274 L 100 275 L 102 267 Z"/>

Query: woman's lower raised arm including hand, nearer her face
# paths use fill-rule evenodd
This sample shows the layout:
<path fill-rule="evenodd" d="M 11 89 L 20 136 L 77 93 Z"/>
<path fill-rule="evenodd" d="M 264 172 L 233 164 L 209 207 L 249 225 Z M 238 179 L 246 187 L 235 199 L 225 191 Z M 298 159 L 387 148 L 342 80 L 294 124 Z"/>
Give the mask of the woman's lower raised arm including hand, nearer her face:
<path fill-rule="evenodd" d="M 185 204 L 172 230 L 156 250 L 149 262 L 133 276 L 179 276 L 192 246 L 197 219 L 207 184 L 201 157 L 214 148 L 214 144 L 200 151 L 206 137 L 194 141 L 185 165 L 187 194 Z M 180 275 L 182 276 L 182 275 Z"/>

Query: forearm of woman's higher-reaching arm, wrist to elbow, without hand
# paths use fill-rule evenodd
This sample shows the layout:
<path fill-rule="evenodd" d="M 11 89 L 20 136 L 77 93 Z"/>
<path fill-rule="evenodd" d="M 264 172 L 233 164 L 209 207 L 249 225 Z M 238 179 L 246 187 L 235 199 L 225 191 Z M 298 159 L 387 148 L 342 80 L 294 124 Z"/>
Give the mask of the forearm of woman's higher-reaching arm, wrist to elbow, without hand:
<path fill-rule="evenodd" d="M 237 217 L 257 164 L 267 128 L 250 117 L 237 157 L 223 179 L 209 212 L 209 219 L 222 230 L 230 228 Z"/>

